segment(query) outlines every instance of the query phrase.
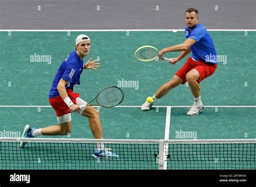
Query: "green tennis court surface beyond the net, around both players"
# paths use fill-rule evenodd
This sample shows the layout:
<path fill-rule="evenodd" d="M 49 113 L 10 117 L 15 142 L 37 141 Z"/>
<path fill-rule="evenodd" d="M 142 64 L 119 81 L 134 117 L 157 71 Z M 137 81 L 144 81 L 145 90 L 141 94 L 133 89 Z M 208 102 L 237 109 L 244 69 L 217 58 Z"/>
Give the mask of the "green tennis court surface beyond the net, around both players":
<path fill-rule="evenodd" d="M 172 78 L 186 59 L 171 65 L 165 61 L 139 62 L 133 56 L 139 46 L 161 49 L 179 44 L 185 39 L 184 32 L 2 31 L 1 137 L 20 136 L 26 124 L 36 128 L 57 124 L 48 103 L 49 89 L 60 63 L 75 49 L 75 38 L 82 33 L 91 38 L 91 52 L 84 62 L 89 57 L 98 58 L 102 66 L 84 70 L 81 84 L 74 91 L 80 92 L 86 101 L 111 85 L 124 92 L 121 106 L 98 108 L 104 139 L 256 138 L 256 33 L 244 31 L 210 31 L 219 63 L 215 73 L 200 84 L 206 109 L 193 117 L 186 116 L 187 106 L 193 100 L 187 84 L 158 100 L 150 111 L 142 112 L 139 107 Z M 56 138 L 92 139 L 93 136 L 87 118 L 72 114 L 72 133 Z M 255 144 L 251 150 L 255 150 Z M 252 156 L 255 164 L 255 153 Z M 157 166 L 153 164 L 151 168 L 154 167 Z"/>

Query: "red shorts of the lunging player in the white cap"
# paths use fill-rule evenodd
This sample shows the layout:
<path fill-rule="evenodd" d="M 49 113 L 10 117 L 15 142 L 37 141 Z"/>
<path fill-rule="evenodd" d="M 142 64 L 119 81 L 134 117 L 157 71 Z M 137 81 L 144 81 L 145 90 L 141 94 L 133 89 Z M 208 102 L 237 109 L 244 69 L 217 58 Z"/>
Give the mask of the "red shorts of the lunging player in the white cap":
<path fill-rule="evenodd" d="M 68 93 L 68 96 L 72 100 L 74 104 L 77 104 L 76 98 L 79 97 L 79 93 L 73 93 L 71 89 L 66 90 Z M 64 114 L 70 113 L 70 109 L 68 105 L 64 102 L 61 96 L 49 98 L 49 103 L 53 107 L 53 109 L 56 112 L 56 116 L 60 117 L 63 116 Z"/>

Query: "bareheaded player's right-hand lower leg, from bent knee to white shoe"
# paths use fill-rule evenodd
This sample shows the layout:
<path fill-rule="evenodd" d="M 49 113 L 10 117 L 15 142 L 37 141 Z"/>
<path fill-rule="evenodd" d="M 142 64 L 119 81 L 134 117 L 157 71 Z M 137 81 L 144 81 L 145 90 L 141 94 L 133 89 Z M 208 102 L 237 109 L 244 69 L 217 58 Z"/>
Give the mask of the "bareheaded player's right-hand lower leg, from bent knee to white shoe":
<path fill-rule="evenodd" d="M 199 112 L 204 110 L 204 105 L 201 102 L 200 97 L 200 85 L 199 85 L 200 74 L 197 69 L 190 70 L 186 75 L 186 80 L 190 86 L 192 95 L 194 96 L 194 104 L 190 107 L 190 110 L 187 112 L 188 116 L 196 116 Z"/>

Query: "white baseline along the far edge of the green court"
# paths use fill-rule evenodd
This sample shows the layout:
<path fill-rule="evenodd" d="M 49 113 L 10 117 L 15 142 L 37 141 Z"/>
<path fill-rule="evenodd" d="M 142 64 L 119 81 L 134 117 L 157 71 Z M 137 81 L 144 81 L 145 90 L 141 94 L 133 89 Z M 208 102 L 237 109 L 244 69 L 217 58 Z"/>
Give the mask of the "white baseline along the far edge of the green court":
<path fill-rule="evenodd" d="M 28 29 L 3 29 L 0 30 L 0 32 L 126 32 L 126 31 L 134 31 L 134 32 L 143 32 L 143 31 L 172 31 L 172 32 L 177 32 L 177 31 L 185 31 L 185 29 L 96 29 L 96 30 L 28 30 Z M 256 31 L 255 29 L 207 29 L 207 31 Z"/>

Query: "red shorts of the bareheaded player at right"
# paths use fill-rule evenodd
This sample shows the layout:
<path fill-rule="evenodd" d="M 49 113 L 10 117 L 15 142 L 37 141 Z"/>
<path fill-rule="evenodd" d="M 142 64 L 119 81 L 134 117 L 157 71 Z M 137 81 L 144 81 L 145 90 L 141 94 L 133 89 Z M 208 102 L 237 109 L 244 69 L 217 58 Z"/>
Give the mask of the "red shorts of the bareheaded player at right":
<path fill-rule="evenodd" d="M 187 82 L 186 80 L 187 73 L 192 69 L 196 69 L 200 75 L 199 80 L 197 82 L 200 83 L 206 77 L 211 76 L 216 70 L 216 68 L 217 68 L 217 63 L 211 64 L 203 61 L 196 62 L 191 57 L 189 57 L 186 63 L 184 63 L 183 67 L 181 67 L 175 75 L 177 75 L 183 80 L 182 84 L 185 84 Z"/>

